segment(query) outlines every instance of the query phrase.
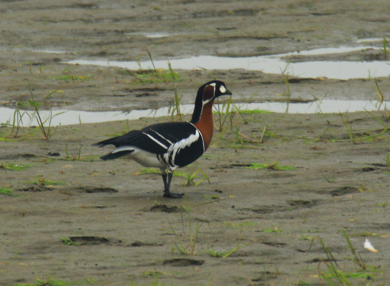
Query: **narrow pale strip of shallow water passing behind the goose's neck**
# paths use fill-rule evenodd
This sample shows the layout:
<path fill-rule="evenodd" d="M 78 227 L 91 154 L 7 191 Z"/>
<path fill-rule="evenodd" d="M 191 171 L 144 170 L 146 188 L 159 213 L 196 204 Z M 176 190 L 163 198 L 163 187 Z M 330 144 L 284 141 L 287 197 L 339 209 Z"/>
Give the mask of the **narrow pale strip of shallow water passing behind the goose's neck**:
<path fill-rule="evenodd" d="M 304 103 L 286 103 L 286 102 L 257 102 L 236 104 L 240 110 L 263 110 L 267 112 L 280 112 L 280 113 L 334 113 L 334 112 L 355 112 L 355 111 L 373 111 L 378 110 L 378 103 L 371 101 L 349 101 L 349 100 L 322 100 L 317 102 L 304 102 Z M 380 106 L 385 108 L 390 106 L 390 102 L 383 102 Z M 223 106 L 219 105 L 220 110 L 223 111 Z M 194 109 L 194 104 L 184 104 L 180 106 L 180 110 L 183 114 L 190 114 Z M 158 109 L 144 109 L 144 110 L 132 110 L 130 112 L 121 111 L 79 111 L 79 110 L 52 110 L 52 126 L 58 125 L 70 125 L 79 123 L 99 123 L 108 121 L 119 120 L 135 120 L 142 117 L 160 117 L 168 116 L 169 108 L 162 107 Z M 23 113 L 23 111 L 20 111 Z M 0 123 L 13 122 L 15 109 L 0 107 Z M 39 115 L 42 120 L 50 118 L 50 111 L 41 110 Z M 46 122 L 45 125 L 49 123 Z M 22 126 L 38 125 L 37 118 L 34 116 L 33 111 L 26 111 L 21 118 Z"/>

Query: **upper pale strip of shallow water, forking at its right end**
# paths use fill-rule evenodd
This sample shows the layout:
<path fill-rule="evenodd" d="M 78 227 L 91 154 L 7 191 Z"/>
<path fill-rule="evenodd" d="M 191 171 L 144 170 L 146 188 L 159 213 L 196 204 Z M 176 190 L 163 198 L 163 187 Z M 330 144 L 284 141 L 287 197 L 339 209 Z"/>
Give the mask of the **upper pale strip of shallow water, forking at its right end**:
<path fill-rule="evenodd" d="M 354 78 L 384 77 L 390 74 L 390 66 L 386 61 L 300 61 L 287 63 L 283 58 L 289 56 L 312 56 L 340 54 L 359 50 L 376 49 L 373 46 L 319 48 L 308 51 L 292 52 L 278 55 L 258 57 L 215 57 L 198 56 L 185 59 L 169 60 L 173 69 L 247 69 L 260 70 L 264 73 L 280 74 L 282 70 L 291 76 L 302 78 L 320 78 L 348 80 Z M 93 64 L 101 66 L 117 66 L 131 70 L 152 68 L 151 61 L 107 61 L 107 60 L 74 60 L 71 64 Z M 168 60 L 153 61 L 156 68 L 168 68 Z"/>

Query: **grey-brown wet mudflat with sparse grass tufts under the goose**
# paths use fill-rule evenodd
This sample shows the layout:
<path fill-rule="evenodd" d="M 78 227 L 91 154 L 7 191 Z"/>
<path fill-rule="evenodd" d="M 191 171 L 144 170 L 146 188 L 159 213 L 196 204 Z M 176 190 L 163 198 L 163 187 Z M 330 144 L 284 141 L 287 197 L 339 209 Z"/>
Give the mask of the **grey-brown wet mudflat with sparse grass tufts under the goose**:
<path fill-rule="evenodd" d="M 251 102 L 313 97 L 377 101 L 373 78 L 291 77 L 287 86 L 281 74 L 219 70 L 216 63 L 209 71 L 175 70 L 180 81 L 140 84 L 121 68 L 63 62 L 147 60 L 146 50 L 161 60 L 381 47 L 380 41 L 356 39 L 389 35 L 389 5 L 384 0 L 353 5 L 292 0 L 3 2 L 0 104 L 24 102 L 20 109 L 31 110 L 31 89 L 35 100 L 43 102 L 41 109 L 157 108 L 172 104 L 175 86 L 183 104 L 193 103 L 197 88 L 213 76 L 226 83 L 234 102 L 251 96 Z M 156 33 L 159 37 L 150 37 Z M 363 50 L 290 60 L 385 61 L 382 57 L 376 50 Z M 377 82 L 388 100 L 389 77 Z M 388 110 L 236 113 L 223 124 L 215 115 L 211 147 L 173 179 L 172 190 L 184 191 L 186 201 L 164 199 L 158 174 L 138 174 L 142 167 L 125 159 L 103 162 L 98 157 L 110 148 L 91 146 L 167 120 L 57 126 L 49 140 L 32 128 L 10 137 L 15 129 L 2 124 L 0 188 L 11 195 L 0 194 L 0 285 L 36 278 L 72 285 L 327 285 L 320 276 L 327 275 L 330 262 L 321 240 L 343 273 L 364 273 L 350 277 L 352 285 L 387 285 Z M 267 167 L 251 168 L 255 163 Z M 25 168 L 12 170 L 15 164 Z M 187 185 L 199 168 L 210 183 L 199 182 L 204 177 L 198 172 Z M 340 229 L 370 266 L 367 271 L 349 259 L 351 250 Z M 366 238 L 378 252 L 363 247 Z M 184 252 L 194 255 L 182 254 L 180 243 L 190 245 Z"/>

